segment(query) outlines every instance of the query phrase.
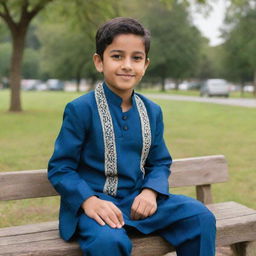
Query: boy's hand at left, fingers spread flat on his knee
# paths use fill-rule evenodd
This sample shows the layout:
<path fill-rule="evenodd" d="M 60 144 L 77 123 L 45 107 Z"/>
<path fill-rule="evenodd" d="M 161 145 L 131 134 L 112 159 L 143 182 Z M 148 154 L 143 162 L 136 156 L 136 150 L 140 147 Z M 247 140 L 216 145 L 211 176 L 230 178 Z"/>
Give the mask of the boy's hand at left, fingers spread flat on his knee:
<path fill-rule="evenodd" d="M 112 202 L 91 196 L 83 202 L 82 208 L 88 217 L 102 226 L 108 224 L 111 228 L 121 228 L 124 225 L 122 212 Z"/>

